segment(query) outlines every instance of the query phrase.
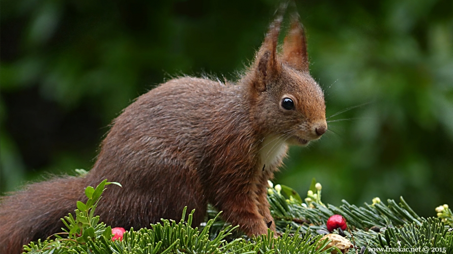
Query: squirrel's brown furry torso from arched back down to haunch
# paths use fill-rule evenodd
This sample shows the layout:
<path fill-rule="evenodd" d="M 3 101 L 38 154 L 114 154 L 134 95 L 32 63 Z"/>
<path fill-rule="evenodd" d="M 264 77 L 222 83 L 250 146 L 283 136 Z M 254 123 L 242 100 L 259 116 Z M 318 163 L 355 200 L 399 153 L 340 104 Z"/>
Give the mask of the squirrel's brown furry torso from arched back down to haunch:
<path fill-rule="evenodd" d="M 106 190 L 104 196 L 110 191 L 115 199 L 101 202 L 101 218 L 121 218 L 124 227 L 137 227 L 161 217 L 178 218 L 188 205 L 195 209 L 194 225 L 201 223 L 207 203 L 216 202 L 215 192 L 206 189 L 216 184 L 228 189 L 228 181 L 215 183 L 233 172 L 228 167 L 256 163 L 247 153 L 256 135 L 243 100 L 239 85 L 191 77 L 170 80 L 137 98 L 115 119 L 90 172 L 95 177 L 91 184 L 105 178 L 127 183 Z M 133 199 L 121 192 L 133 193 Z M 102 209 L 115 204 L 124 211 Z M 124 221 L 129 209 L 142 210 L 144 216 L 136 224 Z"/>

